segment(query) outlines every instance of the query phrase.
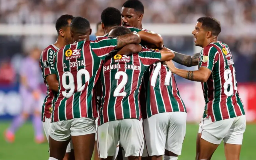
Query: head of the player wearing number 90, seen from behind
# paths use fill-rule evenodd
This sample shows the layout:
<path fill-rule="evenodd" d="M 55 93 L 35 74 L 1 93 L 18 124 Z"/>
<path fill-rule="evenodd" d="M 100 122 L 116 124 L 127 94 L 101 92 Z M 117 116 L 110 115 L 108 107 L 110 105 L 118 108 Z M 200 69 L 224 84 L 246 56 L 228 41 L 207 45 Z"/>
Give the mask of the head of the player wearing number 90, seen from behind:
<path fill-rule="evenodd" d="M 92 34 L 90 22 L 84 17 L 75 17 L 70 23 L 70 33 L 73 41 L 77 41 L 78 36 L 82 35 L 86 37 L 85 40 L 89 40 Z"/>

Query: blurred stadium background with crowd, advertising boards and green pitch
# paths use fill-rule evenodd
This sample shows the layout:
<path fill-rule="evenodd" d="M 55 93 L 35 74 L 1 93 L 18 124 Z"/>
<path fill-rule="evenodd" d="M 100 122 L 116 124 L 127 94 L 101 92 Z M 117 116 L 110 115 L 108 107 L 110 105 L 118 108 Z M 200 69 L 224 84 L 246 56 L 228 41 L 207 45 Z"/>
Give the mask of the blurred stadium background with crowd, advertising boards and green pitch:
<path fill-rule="evenodd" d="M 229 45 L 236 66 L 238 91 L 246 110 L 247 129 L 241 160 L 255 159 L 256 149 L 256 0 L 141 0 L 145 7 L 143 27 L 159 33 L 164 44 L 192 55 L 191 31 L 197 18 L 212 16 L 220 20 L 219 40 Z M 13 144 L 6 143 L 4 130 L 20 114 L 19 94 L 21 60 L 34 48 L 43 50 L 56 40 L 55 21 L 62 14 L 86 17 L 93 30 L 100 13 L 108 6 L 121 10 L 124 0 L 0 0 L 0 160 L 48 159 L 47 143 L 36 144 L 32 124 L 26 123 L 16 134 Z M 188 69 L 176 64 L 178 68 Z M 196 69 L 194 67 L 192 69 Z M 191 69 L 191 68 L 190 68 Z M 42 79 L 42 78 L 41 78 Z M 188 110 L 187 134 L 180 160 L 195 157 L 196 132 L 204 108 L 201 84 L 176 76 L 181 98 Z M 45 86 L 42 79 L 42 100 Z M 223 144 L 212 160 L 224 160 Z"/>

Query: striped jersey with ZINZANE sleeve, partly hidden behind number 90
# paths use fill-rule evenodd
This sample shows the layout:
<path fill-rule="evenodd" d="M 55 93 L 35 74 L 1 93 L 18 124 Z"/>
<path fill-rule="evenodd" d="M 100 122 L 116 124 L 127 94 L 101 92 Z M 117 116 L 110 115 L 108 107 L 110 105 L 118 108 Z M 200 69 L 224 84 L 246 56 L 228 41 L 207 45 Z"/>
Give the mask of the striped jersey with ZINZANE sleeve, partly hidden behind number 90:
<path fill-rule="evenodd" d="M 59 48 L 57 48 L 54 44 L 46 47 L 41 53 L 39 66 L 42 70 L 42 75 L 44 78 L 44 84 L 47 87 L 46 97 L 44 98 L 44 104 L 42 107 L 42 121 L 45 122 L 45 118 L 51 118 L 52 107 L 54 104 L 54 96 L 55 94 L 52 90 L 49 89 L 49 85 L 46 82 L 46 76 L 55 74 L 54 65 L 53 65 L 53 57 L 55 52 L 57 52 Z"/>

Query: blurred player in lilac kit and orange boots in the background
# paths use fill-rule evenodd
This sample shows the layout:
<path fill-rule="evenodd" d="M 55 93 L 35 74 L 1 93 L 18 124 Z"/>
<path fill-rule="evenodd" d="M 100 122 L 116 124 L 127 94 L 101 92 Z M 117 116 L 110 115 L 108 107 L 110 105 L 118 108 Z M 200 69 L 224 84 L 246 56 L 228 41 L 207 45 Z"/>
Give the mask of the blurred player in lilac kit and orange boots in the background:
<path fill-rule="evenodd" d="M 11 126 L 5 132 L 5 139 L 8 142 L 15 140 L 15 132 L 26 122 L 31 114 L 33 114 L 32 123 L 35 130 L 35 141 L 36 143 L 44 142 L 41 107 L 39 104 L 41 98 L 39 58 L 40 51 L 38 48 L 34 48 L 22 62 L 20 94 L 23 101 L 23 110 L 19 116 L 13 119 Z"/>

